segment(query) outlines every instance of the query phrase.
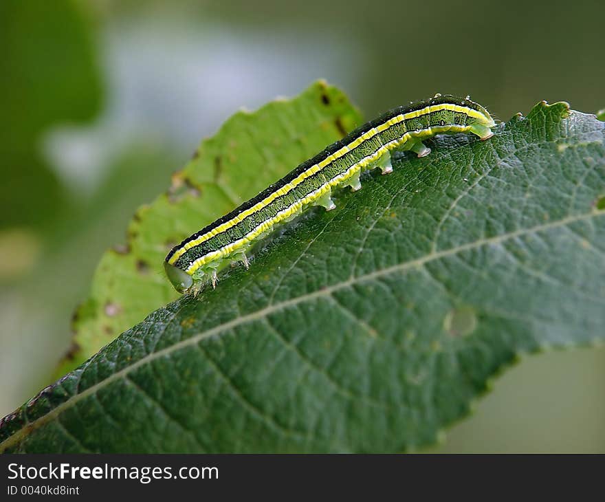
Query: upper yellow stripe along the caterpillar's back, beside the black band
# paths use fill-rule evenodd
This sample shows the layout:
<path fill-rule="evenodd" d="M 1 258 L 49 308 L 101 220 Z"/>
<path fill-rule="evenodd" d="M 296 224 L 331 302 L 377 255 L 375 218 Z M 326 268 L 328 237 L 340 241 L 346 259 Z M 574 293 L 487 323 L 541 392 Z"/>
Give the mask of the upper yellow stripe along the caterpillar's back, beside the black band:
<path fill-rule="evenodd" d="M 232 228 L 237 223 L 242 221 L 244 218 L 246 218 L 250 215 L 253 215 L 255 212 L 265 208 L 268 204 L 271 204 L 271 202 L 274 201 L 277 197 L 281 197 L 282 195 L 287 194 L 290 190 L 293 190 L 294 188 L 296 188 L 296 186 L 298 186 L 305 179 L 307 179 L 307 177 L 314 175 L 318 171 L 321 171 L 322 168 L 325 168 L 325 166 L 328 166 L 335 160 L 338 160 L 345 153 L 349 152 L 352 149 L 355 149 L 355 147 L 362 144 L 362 142 L 369 140 L 370 138 L 373 138 L 378 133 L 381 133 L 382 131 L 388 129 L 389 127 L 391 127 L 395 124 L 399 124 L 399 122 L 402 122 L 404 120 L 409 120 L 410 118 L 416 118 L 421 115 L 426 115 L 426 113 L 431 113 L 432 111 L 439 111 L 439 110 L 444 110 L 444 109 L 448 110 L 448 111 L 454 111 L 454 112 L 457 111 L 459 113 L 465 113 L 468 116 L 471 116 L 474 118 L 483 118 L 481 113 L 479 113 L 476 110 L 473 110 L 473 109 L 467 108 L 467 107 L 462 107 L 460 105 L 450 104 L 450 103 L 443 103 L 442 105 L 431 105 L 431 106 L 425 107 L 423 109 L 409 111 L 408 113 L 405 113 L 403 115 L 395 116 L 395 117 L 387 120 L 383 124 L 380 124 L 380 126 L 374 127 L 373 129 L 370 129 L 366 133 L 363 133 L 359 138 L 357 138 L 353 142 L 343 146 L 340 150 L 332 153 L 331 155 L 326 157 L 324 160 L 322 160 L 318 164 L 315 164 L 314 166 L 309 167 L 307 169 L 307 171 L 300 173 L 300 175 L 298 175 L 296 178 L 294 178 L 292 180 L 292 182 L 285 184 L 283 187 L 279 188 L 274 193 L 267 195 L 267 197 L 265 197 L 265 199 L 257 202 L 251 208 L 248 208 L 247 210 L 242 211 L 241 213 L 239 213 L 239 215 L 236 215 L 229 221 L 225 221 L 225 223 L 222 223 L 221 225 L 217 226 L 216 228 L 212 228 L 212 230 L 209 230 L 205 234 L 200 235 L 199 237 L 197 237 L 197 239 L 194 239 L 192 241 L 185 243 L 182 248 L 177 250 L 175 252 L 175 254 L 173 254 L 173 256 L 170 257 L 170 259 L 168 260 L 168 263 L 170 263 L 171 265 L 174 265 L 176 263 L 176 261 L 186 251 L 190 250 L 191 248 L 195 248 L 195 246 L 198 245 L 199 243 L 202 243 L 203 241 L 207 241 L 208 239 L 210 239 L 211 237 L 214 237 L 217 234 L 225 232 L 225 230 Z"/>

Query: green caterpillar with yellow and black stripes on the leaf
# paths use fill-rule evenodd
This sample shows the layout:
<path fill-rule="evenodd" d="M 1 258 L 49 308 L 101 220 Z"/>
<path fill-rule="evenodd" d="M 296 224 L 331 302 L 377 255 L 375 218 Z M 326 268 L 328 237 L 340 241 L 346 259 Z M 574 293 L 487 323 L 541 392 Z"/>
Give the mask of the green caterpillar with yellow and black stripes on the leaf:
<path fill-rule="evenodd" d="M 423 140 L 436 134 L 473 133 L 487 140 L 494 134 L 494 126 L 487 110 L 468 96 L 436 94 L 386 111 L 175 245 L 164 261 L 166 276 L 179 293 L 197 295 L 209 276 L 215 287 L 217 270 L 233 261 L 241 261 L 248 268 L 246 251 L 278 223 L 293 219 L 307 206 L 335 208 L 333 188 L 350 186 L 353 191 L 359 190 L 360 174 L 366 169 L 391 173 L 391 151 L 410 150 L 424 157 L 430 149 Z"/>

